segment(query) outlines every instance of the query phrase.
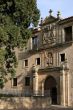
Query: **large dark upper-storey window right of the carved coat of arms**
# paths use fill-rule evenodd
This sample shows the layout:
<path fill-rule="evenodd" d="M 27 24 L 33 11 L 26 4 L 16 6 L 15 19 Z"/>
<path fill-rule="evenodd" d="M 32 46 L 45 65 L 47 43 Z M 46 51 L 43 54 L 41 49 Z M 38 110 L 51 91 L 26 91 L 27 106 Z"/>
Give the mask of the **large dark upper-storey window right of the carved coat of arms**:
<path fill-rule="evenodd" d="M 72 26 L 64 28 L 65 31 L 65 41 L 71 41 L 72 40 Z"/>

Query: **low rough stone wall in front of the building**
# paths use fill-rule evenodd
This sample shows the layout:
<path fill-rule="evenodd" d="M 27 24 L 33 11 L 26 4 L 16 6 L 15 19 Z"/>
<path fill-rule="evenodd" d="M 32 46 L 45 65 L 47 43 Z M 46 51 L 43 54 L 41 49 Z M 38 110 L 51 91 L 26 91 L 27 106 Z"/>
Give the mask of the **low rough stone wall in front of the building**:
<path fill-rule="evenodd" d="M 0 109 L 38 109 L 48 108 L 50 99 L 48 97 L 4 97 L 0 99 Z"/>

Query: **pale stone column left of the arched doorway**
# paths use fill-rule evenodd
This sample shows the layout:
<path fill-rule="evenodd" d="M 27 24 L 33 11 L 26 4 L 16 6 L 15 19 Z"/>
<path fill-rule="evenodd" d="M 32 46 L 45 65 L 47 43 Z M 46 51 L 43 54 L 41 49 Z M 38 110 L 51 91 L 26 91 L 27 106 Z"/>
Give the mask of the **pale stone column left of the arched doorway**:
<path fill-rule="evenodd" d="M 34 66 L 33 68 L 33 94 L 38 95 L 38 68 Z"/>

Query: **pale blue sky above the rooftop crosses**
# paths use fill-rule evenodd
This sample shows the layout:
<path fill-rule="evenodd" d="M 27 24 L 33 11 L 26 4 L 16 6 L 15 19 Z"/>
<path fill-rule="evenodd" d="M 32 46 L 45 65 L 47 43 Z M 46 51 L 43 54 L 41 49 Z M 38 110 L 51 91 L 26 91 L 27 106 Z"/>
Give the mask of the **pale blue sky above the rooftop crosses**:
<path fill-rule="evenodd" d="M 57 16 L 57 11 L 61 12 L 62 18 L 73 16 L 73 0 L 37 0 L 37 7 L 42 18 L 49 16 L 50 9 L 54 16 Z"/>

